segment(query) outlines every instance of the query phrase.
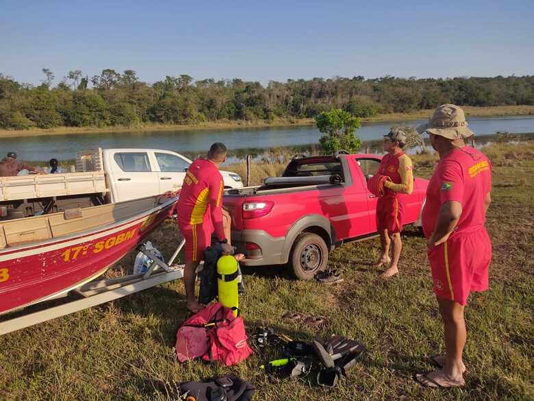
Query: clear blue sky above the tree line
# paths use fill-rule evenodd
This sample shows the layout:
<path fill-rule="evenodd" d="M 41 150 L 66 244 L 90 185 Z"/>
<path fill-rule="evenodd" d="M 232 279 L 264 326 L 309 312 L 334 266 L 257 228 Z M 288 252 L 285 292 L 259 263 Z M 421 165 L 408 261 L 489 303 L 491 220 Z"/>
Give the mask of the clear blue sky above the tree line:
<path fill-rule="evenodd" d="M 534 1 L 0 1 L 0 73 L 285 82 L 534 74 Z"/>

